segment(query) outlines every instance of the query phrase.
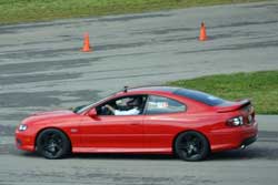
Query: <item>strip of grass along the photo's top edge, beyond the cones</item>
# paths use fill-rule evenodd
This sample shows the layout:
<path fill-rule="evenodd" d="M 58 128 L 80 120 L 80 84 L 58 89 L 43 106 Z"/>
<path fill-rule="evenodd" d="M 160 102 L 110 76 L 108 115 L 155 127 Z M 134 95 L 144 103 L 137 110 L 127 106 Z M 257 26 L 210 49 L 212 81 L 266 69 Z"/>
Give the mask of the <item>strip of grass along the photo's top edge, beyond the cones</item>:
<path fill-rule="evenodd" d="M 264 0 L 0 0 L 0 24 Z"/>

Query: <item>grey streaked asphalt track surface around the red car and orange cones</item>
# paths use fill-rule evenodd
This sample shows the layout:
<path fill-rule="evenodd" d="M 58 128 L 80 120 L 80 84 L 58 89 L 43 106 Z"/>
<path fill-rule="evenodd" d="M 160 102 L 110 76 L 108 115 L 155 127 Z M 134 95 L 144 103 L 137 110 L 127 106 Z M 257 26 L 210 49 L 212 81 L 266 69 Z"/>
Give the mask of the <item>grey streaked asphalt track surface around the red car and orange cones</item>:
<path fill-rule="evenodd" d="M 205 21 L 209 40 L 199 42 Z M 47 161 L 13 147 L 34 111 L 93 102 L 123 85 L 278 69 L 278 2 L 0 25 L 0 184 L 277 184 L 278 117 L 259 140 L 201 163 L 158 155 Z M 82 53 L 88 31 L 93 52 Z"/>

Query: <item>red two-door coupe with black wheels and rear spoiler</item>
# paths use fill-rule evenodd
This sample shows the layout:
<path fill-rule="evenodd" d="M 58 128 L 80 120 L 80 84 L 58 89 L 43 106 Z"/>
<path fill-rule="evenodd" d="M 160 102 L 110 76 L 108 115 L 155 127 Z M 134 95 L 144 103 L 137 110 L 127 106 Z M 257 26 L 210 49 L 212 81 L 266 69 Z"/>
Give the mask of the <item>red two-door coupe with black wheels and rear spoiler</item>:
<path fill-rule="evenodd" d="M 70 153 L 177 154 L 186 161 L 245 147 L 258 124 L 248 100 L 230 102 L 181 88 L 125 89 L 73 111 L 33 114 L 17 127 L 17 147 L 46 158 Z"/>

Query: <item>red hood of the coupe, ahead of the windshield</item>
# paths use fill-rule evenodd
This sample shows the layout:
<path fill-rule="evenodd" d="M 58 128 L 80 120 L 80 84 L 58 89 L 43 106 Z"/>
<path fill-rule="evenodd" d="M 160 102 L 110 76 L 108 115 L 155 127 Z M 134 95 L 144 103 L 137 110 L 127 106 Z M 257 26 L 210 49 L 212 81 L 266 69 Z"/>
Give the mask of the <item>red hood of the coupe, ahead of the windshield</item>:
<path fill-rule="evenodd" d="M 57 121 L 60 119 L 69 117 L 76 115 L 72 111 L 61 110 L 51 112 L 37 112 L 31 114 L 29 117 L 23 120 L 23 123 L 38 123 L 44 121 Z"/>

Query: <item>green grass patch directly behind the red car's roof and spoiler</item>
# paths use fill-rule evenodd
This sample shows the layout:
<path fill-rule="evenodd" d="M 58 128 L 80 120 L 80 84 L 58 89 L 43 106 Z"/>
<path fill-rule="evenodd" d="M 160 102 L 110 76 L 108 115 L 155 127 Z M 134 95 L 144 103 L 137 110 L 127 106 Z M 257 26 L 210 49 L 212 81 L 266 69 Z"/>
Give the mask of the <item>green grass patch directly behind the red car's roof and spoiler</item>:
<path fill-rule="evenodd" d="M 278 114 L 278 71 L 210 75 L 167 84 L 203 91 L 227 100 L 249 97 L 257 113 Z"/>

